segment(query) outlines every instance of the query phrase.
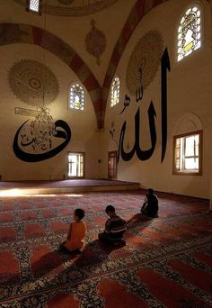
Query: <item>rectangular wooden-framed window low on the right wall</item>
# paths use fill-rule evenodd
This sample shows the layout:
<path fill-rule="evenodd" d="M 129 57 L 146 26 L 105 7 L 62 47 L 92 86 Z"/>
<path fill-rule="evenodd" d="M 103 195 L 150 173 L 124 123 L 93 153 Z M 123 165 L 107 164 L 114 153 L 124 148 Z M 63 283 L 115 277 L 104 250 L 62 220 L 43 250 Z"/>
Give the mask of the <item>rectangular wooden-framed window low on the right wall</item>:
<path fill-rule="evenodd" d="M 202 131 L 173 138 L 173 174 L 201 176 Z"/>

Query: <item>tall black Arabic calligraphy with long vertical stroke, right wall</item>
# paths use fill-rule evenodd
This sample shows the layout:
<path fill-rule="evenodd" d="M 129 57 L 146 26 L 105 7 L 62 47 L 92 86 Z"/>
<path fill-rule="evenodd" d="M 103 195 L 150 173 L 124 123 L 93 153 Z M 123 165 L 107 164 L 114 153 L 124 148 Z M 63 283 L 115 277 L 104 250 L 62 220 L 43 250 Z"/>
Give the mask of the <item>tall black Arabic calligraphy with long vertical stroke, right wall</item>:
<path fill-rule="evenodd" d="M 162 122 L 161 122 L 161 133 L 162 133 L 162 152 L 161 152 L 161 163 L 165 157 L 166 151 L 166 143 L 167 143 L 167 71 L 171 71 L 170 67 L 170 59 L 167 48 L 163 52 L 163 56 L 161 58 L 161 114 L 162 114 Z M 143 87 L 139 85 L 136 91 L 136 101 L 139 102 L 143 98 Z M 128 97 L 128 102 L 130 102 L 130 98 Z M 126 107 L 125 107 L 126 108 Z M 124 108 L 124 109 L 125 109 Z M 124 150 L 124 138 L 125 132 L 127 128 L 127 122 L 125 121 L 122 125 L 120 136 L 119 136 L 119 152 L 118 152 L 118 161 L 119 158 L 124 161 L 129 161 L 137 154 L 137 158 L 140 160 L 150 159 L 155 151 L 155 145 L 157 140 L 156 128 L 155 128 L 155 106 L 154 102 L 151 101 L 148 108 L 148 122 L 149 122 L 149 131 L 151 138 L 151 147 L 150 149 L 143 150 L 140 147 L 140 107 L 137 109 L 137 113 L 135 115 L 135 143 L 133 148 L 126 152 Z M 124 111 L 124 110 L 123 110 Z M 122 112 L 123 112 L 122 111 Z"/>

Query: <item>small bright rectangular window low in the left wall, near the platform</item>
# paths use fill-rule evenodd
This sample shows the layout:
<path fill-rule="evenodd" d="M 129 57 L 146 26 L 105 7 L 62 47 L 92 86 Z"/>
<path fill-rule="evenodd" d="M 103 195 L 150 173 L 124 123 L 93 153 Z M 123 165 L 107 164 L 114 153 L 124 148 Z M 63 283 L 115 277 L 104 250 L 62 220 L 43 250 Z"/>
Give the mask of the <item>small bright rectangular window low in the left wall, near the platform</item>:
<path fill-rule="evenodd" d="M 68 153 L 68 177 L 84 177 L 84 153 Z"/>

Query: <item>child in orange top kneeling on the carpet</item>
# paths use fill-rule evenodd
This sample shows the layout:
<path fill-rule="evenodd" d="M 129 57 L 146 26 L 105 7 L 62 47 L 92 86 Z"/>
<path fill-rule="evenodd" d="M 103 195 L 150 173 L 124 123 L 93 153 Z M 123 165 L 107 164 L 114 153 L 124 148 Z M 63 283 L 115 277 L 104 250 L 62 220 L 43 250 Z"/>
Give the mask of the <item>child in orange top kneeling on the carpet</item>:
<path fill-rule="evenodd" d="M 67 239 L 60 245 L 59 247 L 60 250 L 68 250 L 68 251 L 79 250 L 80 252 L 83 251 L 84 237 L 86 234 L 86 224 L 85 222 L 82 222 L 83 218 L 84 218 L 84 210 L 75 209 L 73 215 L 73 222 L 71 222 L 67 233 Z"/>

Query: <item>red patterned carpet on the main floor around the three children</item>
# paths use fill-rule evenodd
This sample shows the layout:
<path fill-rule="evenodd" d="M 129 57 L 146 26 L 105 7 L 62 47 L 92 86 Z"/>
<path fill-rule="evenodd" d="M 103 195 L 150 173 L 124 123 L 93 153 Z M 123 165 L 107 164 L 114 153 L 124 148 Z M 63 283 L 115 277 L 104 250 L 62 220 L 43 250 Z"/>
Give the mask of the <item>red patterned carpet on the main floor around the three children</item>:
<path fill-rule="evenodd" d="M 159 194 L 159 218 L 136 215 L 127 245 L 97 234 L 114 204 L 128 220 L 142 190 L 0 199 L 0 307 L 211 307 L 212 215 L 208 201 Z M 87 247 L 58 253 L 73 210 L 86 211 Z"/>

